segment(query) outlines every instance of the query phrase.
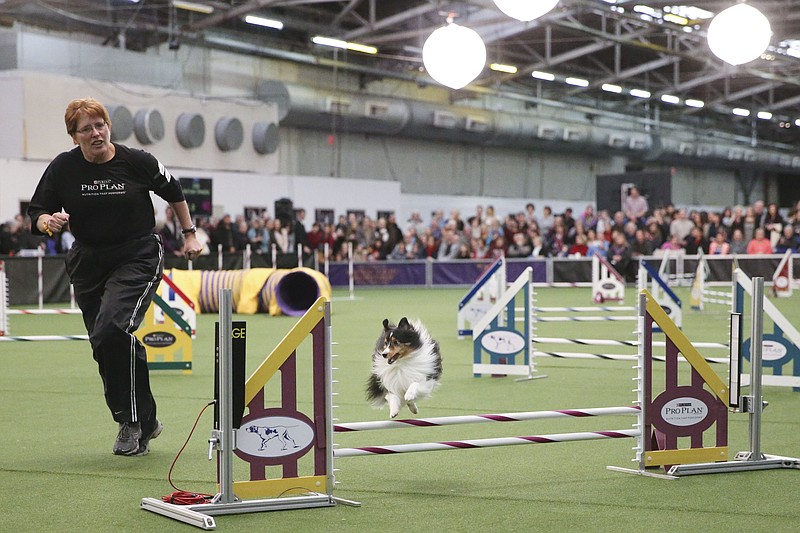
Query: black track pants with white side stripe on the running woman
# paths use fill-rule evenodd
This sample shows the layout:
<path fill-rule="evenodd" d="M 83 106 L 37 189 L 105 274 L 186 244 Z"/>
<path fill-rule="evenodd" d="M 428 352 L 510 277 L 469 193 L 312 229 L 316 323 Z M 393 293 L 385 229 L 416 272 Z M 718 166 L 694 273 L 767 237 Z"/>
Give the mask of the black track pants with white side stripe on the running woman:
<path fill-rule="evenodd" d="M 117 422 L 156 418 L 147 353 L 134 336 L 158 289 L 164 249 L 157 235 L 111 246 L 76 242 L 66 259 L 75 299 L 83 313 L 106 404 Z"/>

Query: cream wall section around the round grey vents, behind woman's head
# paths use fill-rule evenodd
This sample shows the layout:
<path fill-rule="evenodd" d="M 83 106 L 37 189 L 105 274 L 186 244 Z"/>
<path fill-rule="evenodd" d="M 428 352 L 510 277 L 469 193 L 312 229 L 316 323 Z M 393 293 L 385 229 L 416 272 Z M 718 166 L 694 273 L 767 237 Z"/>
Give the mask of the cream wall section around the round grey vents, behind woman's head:
<path fill-rule="evenodd" d="M 256 152 L 251 136 L 256 122 L 277 125 L 277 106 L 273 104 L 243 98 L 199 98 L 168 89 L 21 71 L 0 72 L 0 88 L 4 89 L 0 114 L 12 119 L 22 115 L 21 122 L 3 121 L 3 128 L 10 130 L 7 136 L 0 137 L 3 157 L 49 161 L 59 152 L 71 149 L 73 143 L 64 125 L 64 111 L 73 98 L 90 96 L 106 106 L 125 106 L 131 115 L 140 109 L 158 110 L 164 122 L 162 140 L 141 144 L 131 135 L 120 142 L 152 152 L 167 166 L 278 171 L 278 156 Z M 187 149 L 178 141 L 175 125 L 181 113 L 203 117 L 205 137 L 200 147 Z M 224 117 L 235 117 L 242 123 L 244 140 L 236 150 L 222 151 L 217 147 L 214 128 Z"/>

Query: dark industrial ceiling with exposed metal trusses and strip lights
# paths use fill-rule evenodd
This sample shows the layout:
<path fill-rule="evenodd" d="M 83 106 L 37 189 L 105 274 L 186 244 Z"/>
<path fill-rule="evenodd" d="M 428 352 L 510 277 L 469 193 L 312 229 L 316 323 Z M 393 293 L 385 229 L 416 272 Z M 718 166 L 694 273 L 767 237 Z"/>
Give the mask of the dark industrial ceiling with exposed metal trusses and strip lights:
<path fill-rule="evenodd" d="M 754 144 L 797 146 L 800 0 L 749 2 L 767 16 L 773 36 L 759 59 L 740 66 L 717 59 L 706 41 L 711 17 L 735 3 L 561 0 L 545 16 L 520 22 L 499 11 L 492 0 L 250 0 L 194 5 L 167 0 L 0 0 L 0 23 L 89 34 L 108 46 L 134 51 L 191 43 L 290 61 L 320 59 L 360 73 L 367 86 L 379 78 L 436 83 L 425 73 L 422 46 L 451 17 L 481 35 L 487 65 L 517 68 L 516 73 L 507 73 L 487 67 L 473 83 L 454 91 L 454 100 L 502 93 L 533 103 L 554 101 L 687 123 L 751 136 Z M 197 11 L 203 8 L 206 13 Z M 280 21 L 283 28 L 249 24 L 246 15 Z M 377 54 L 320 46 L 312 42 L 318 35 L 370 45 Z M 554 79 L 535 78 L 534 72 Z M 588 83 L 569 85 L 566 78 Z M 621 90 L 610 92 L 609 87 Z M 634 97 L 630 90 L 643 92 Z M 687 100 L 703 105 L 692 107 Z M 750 115 L 735 115 L 735 109 Z"/>

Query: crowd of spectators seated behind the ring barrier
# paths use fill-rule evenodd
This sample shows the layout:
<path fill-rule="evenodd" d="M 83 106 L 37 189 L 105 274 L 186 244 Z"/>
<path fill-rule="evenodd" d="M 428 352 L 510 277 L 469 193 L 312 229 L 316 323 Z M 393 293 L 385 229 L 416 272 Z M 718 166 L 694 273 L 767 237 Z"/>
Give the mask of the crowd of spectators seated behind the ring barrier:
<path fill-rule="evenodd" d="M 627 271 L 638 256 L 685 253 L 772 254 L 800 246 L 800 201 L 786 216 L 777 204 L 755 201 L 748 206 L 722 211 L 688 210 L 667 205 L 650 209 L 647 199 L 634 187 L 622 209 L 595 212 L 587 205 L 576 214 L 572 208 L 541 212 L 528 203 L 518 212 L 500 215 L 491 205 L 476 206 L 462 214 L 451 209 L 435 210 L 425 220 L 413 212 L 400 223 L 394 214 L 377 219 L 355 213 L 340 215 L 331 223 L 307 225 L 305 210 L 295 211 L 294 220 L 268 213 L 250 219 L 224 215 L 218 220 L 198 219 L 197 237 L 208 254 L 222 247 L 235 253 L 250 245 L 252 253 L 321 253 L 327 243 L 330 260 L 346 260 L 352 249 L 355 261 L 427 259 L 434 261 L 505 257 L 572 257 L 601 254 L 618 270 Z M 181 252 L 181 234 L 174 213 L 167 207 L 158 231 L 168 254 Z M 42 239 L 30 232 L 30 222 L 21 216 L 3 225 L 0 255 L 21 249 L 42 248 L 45 253 L 63 253 L 70 235 Z"/>

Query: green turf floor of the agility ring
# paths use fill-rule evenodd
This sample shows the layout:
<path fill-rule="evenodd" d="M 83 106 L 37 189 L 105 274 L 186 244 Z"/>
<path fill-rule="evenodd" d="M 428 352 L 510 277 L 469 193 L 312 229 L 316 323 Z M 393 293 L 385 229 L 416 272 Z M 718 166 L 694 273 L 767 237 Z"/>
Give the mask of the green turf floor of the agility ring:
<path fill-rule="evenodd" d="M 342 421 L 380 420 L 364 401 L 370 353 L 380 321 L 421 318 L 442 346 L 444 375 L 420 416 L 630 405 L 630 362 L 542 358 L 549 377 L 529 382 L 472 377 L 472 345 L 456 338 L 456 306 L 465 290 L 361 290 L 334 293 L 333 339 L 339 356 L 335 415 Z M 628 305 L 633 291 L 628 291 Z M 686 291 L 679 295 L 688 300 Z M 591 305 L 588 289 L 543 289 L 540 305 Z M 800 296 L 773 300 L 800 324 Z M 688 308 L 688 305 L 685 305 Z M 200 410 L 212 396 L 215 315 L 198 318 L 191 375 L 152 372 L 165 430 L 146 457 L 111 454 L 116 435 L 102 399 L 88 344 L 0 342 L 0 531 L 194 531 L 139 508 L 142 497 L 172 492 L 170 465 Z M 248 367 L 254 369 L 296 322 L 291 317 L 243 316 Z M 10 318 L 11 334 L 83 333 L 78 316 Z M 769 325 L 769 323 L 767 323 Z M 726 311 L 684 311 L 693 341 L 727 341 Z M 541 336 L 633 340 L 634 323 L 542 324 Z M 550 346 L 568 351 L 569 347 Z M 574 351 L 589 351 L 587 348 Z M 603 351 L 594 347 L 590 351 Z M 607 352 L 634 353 L 633 350 Z M 705 355 L 705 354 L 704 354 Z M 708 352 L 720 356 L 719 352 Z M 726 379 L 726 366 L 715 370 Z M 762 450 L 800 456 L 800 393 L 766 387 Z M 407 411 L 401 417 L 409 416 Z M 630 428 L 631 417 L 480 424 L 337 435 L 342 446 L 463 440 Z M 175 465 L 179 488 L 215 492 L 208 461 L 211 416 L 201 419 Z M 665 481 L 612 472 L 633 467 L 633 439 L 571 442 L 336 460 L 335 494 L 360 508 L 279 511 L 216 517 L 219 531 L 734 531 L 800 528 L 800 471 L 692 476 Z M 731 452 L 747 449 L 746 415 L 730 417 Z M 238 461 L 238 460 L 237 460 Z"/>

